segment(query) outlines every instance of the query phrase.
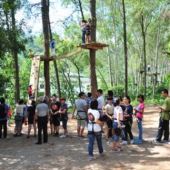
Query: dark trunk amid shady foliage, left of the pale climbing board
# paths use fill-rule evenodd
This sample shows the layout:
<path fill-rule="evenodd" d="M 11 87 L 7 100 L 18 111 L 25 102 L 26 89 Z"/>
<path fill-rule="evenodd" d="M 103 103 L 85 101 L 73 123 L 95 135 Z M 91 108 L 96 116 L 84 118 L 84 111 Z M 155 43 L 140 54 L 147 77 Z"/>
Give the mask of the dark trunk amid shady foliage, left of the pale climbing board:
<path fill-rule="evenodd" d="M 15 27 L 15 11 L 14 8 L 11 9 L 12 18 L 12 55 L 14 57 L 14 79 L 15 79 L 15 102 L 20 99 L 20 88 L 19 88 L 19 68 L 18 68 L 18 50 L 16 46 L 16 27 Z"/>

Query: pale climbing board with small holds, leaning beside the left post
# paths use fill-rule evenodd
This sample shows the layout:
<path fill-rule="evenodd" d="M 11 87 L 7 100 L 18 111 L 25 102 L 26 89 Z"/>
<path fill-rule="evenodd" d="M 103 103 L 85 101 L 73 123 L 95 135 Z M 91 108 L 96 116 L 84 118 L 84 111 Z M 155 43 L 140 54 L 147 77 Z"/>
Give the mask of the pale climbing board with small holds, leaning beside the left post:
<path fill-rule="evenodd" d="M 30 85 L 32 85 L 35 100 L 38 97 L 37 95 L 38 95 L 39 72 L 40 72 L 40 56 L 36 56 L 32 58 L 30 74 Z"/>

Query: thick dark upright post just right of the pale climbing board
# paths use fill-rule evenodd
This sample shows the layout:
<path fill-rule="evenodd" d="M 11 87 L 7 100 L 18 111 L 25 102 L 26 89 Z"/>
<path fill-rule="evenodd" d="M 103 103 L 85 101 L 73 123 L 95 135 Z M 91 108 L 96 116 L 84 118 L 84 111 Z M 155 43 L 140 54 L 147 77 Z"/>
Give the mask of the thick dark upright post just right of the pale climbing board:
<path fill-rule="evenodd" d="M 41 0 L 42 25 L 44 34 L 44 56 L 49 58 L 49 0 Z M 45 96 L 50 96 L 50 62 L 44 61 L 44 87 Z"/>

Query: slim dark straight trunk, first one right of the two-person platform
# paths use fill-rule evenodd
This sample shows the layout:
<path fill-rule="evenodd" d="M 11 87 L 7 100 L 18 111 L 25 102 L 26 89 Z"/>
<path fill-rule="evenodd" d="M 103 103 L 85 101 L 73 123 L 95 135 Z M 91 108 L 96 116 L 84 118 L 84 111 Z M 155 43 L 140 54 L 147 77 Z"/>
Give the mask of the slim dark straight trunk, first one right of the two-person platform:
<path fill-rule="evenodd" d="M 123 39 L 124 39 L 124 62 L 125 62 L 125 96 L 128 94 L 128 65 L 127 65 L 127 41 L 126 41 L 126 11 L 125 11 L 125 2 L 122 0 L 123 7 Z"/>

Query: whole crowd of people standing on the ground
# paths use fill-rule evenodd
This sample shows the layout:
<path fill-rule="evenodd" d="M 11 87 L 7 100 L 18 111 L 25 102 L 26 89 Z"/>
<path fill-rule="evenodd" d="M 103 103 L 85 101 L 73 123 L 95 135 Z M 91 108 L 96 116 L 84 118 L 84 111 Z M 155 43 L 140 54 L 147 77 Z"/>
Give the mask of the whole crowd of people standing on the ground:
<path fill-rule="evenodd" d="M 165 98 L 162 106 L 158 106 L 161 110 L 159 119 L 158 135 L 153 143 L 169 141 L 169 120 L 170 120 L 170 98 L 168 90 L 162 90 L 162 96 Z M 31 97 L 31 95 L 29 95 Z M 87 127 L 89 137 L 89 160 L 95 159 L 93 154 L 93 146 L 95 139 L 97 140 L 99 154 L 104 155 L 102 146 L 102 134 L 105 133 L 106 143 L 109 144 L 110 138 L 113 142 L 112 151 L 120 152 L 122 145 L 141 144 L 143 142 L 142 120 L 145 110 L 144 96 L 137 96 L 139 105 L 134 107 L 131 105 L 129 96 L 113 97 L 113 91 L 109 90 L 107 95 L 103 97 L 103 91 L 97 90 L 97 99 L 92 98 L 92 94 L 87 95 L 84 92 L 79 93 L 79 98 L 75 101 L 72 111 L 72 118 L 77 119 L 77 138 L 84 138 L 84 129 Z M 0 99 L 0 139 L 7 137 L 7 125 L 10 126 L 10 118 L 12 115 L 11 108 L 5 103 L 5 99 Z M 48 103 L 48 104 L 47 104 Z M 31 129 L 34 129 L 34 137 L 37 136 L 36 144 L 48 142 L 48 122 L 50 124 L 50 132 L 53 136 L 66 138 L 69 133 L 67 130 L 68 122 L 68 107 L 66 98 L 60 98 L 57 101 L 57 96 L 51 96 L 50 104 L 47 98 L 39 97 L 38 103 L 33 98 L 24 103 L 24 100 L 19 100 L 14 110 L 15 127 L 14 136 L 22 135 L 22 126 L 28 123 L 27 138 L 30 138 Z M 136 118 L 139 136 L 134 139 L 132 133 L 133 116 Z M 60 135 L 59 128 L 62 122 L 63 134 Z M 105 132 L 104 132 L 105 130 Z M 3 134 L 2 134 L 3 131 Z M 43 138 L 42 138 L 43 131 Z M 163 141 L 162 136 L 164 134 Z M 128 139 L 130 139 L 128 141 Z"/>

